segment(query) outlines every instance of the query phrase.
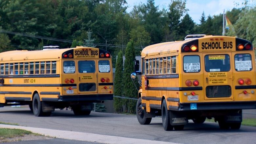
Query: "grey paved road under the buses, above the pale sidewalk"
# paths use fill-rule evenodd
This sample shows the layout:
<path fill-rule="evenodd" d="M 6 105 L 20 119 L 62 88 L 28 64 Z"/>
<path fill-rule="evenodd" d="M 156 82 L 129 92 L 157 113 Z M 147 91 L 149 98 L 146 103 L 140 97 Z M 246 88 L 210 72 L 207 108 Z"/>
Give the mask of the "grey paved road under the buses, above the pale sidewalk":
<path fill-rule="evenodd" d="M 150 125 L 140 125 L 135 115 L 92 112 L 89 116 L 75 116 L 71 111 L 56 110 L 50 117 L 35 117 L 29 109 L 5 107 L 0 108 L 0 121 L 29 127 L 187 144 L 256 143 L 255 127 L 220 130 L 217 123 L 189 122 L 183 131 L 166 132 L 160 117 L 153 118 Z"/>

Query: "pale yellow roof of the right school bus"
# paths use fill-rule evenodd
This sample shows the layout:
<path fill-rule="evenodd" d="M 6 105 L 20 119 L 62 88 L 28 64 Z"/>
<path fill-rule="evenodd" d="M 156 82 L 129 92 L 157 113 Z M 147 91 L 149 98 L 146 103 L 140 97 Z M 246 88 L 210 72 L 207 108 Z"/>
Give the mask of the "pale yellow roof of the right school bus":
<path fill-rule="evenodd" d="M 201 34 L 200 36 L 201 37 L 189 38 L 183 41 L 163 42 L 163 43 L 147 46 L 141 51 L 141 57 L 159 55 L 160 53 L 164 54 L 169 52 L 181 53 L 181 46 L 184 43 L 193 41 L 195 39 L 204 39 L 209 37 L 228 37 L 228 36 L 212 36 L 212 35 L 203 35 L 203 34 Z"/>

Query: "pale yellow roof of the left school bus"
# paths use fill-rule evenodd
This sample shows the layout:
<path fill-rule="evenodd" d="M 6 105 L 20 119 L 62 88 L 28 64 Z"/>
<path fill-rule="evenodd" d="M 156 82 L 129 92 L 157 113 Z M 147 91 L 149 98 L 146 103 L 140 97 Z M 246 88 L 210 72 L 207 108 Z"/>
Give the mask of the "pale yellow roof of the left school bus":
<path fill-rule="evenodd" d="M 36 59 L 55 59 L 62 58 L 62 53 L 72 49 L 81 49 L 89 47 L 76 47 L 67 49 L 44 49 L 38 51 L 28 50 L 16 50 L 16 51 L 5 51 L 0 53 L 1 61 L 15 61 L 15 60 L 36 60 Z M 93 48 L 95 49 L 95 48 Z"/>

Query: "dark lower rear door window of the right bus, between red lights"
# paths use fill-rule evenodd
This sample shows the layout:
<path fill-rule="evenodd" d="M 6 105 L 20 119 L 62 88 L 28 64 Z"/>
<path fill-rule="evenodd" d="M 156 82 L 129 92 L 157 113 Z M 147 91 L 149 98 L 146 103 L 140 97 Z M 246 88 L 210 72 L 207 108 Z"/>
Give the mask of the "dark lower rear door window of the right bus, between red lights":
<path fill-rule="evenodd" d="M 206 96 L 208 98 L 230 97 L 231 87 L 230 86 L 208 86 L 206 87 Z"/>

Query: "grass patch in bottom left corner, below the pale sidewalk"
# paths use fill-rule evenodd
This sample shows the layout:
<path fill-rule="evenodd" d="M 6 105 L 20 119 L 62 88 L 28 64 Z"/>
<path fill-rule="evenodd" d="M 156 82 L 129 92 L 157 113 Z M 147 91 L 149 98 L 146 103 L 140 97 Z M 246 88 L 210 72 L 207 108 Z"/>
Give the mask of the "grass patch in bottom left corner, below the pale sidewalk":
<path fill-rule="evenodd" d="M 14 138 L 18 136 L 24 136 L 26 134 L 32 134 L 32 132 L 20 130 L 20 129 L 0 128 L 0 140 L 5 140 L 7 138 Z"/>

